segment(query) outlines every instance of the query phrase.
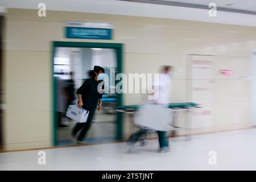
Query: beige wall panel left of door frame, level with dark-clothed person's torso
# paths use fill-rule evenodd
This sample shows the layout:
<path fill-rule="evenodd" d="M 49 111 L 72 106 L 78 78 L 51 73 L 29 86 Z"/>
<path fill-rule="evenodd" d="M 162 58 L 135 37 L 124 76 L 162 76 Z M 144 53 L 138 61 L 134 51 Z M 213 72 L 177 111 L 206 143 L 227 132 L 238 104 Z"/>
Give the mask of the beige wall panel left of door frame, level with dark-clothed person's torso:
<path fill-rule="evenodd" d="M 51 82 L 7 82 L 7 113 L 50 111 Z"/>

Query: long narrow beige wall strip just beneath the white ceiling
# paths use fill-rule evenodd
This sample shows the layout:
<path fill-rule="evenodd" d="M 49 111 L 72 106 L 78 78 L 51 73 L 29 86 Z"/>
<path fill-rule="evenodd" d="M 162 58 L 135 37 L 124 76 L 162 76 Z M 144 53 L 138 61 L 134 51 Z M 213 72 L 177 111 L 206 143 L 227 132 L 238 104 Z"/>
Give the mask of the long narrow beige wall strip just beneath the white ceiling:
<path fill-rule="evenodd" d="M 97 13 L 80 13 L 68 11 L 47 10 L 46 17 L 39 17 L 38 10 L 8 9 L 7 19 L 10 20 L 33 20 L 43 22 L 111 22 L 114 25 L 138 26 L 138 27 L 158 27 L 173 28 L 180 30 L 197 30 L 208 32 L 224 32 L 226 34 L 251 34 L 256 35 L 255 27 L 237 26 L 230 24 L 218 24 L 197 22 L 188 20 L 150 18 L 139 16 L 109 15 Z"/>

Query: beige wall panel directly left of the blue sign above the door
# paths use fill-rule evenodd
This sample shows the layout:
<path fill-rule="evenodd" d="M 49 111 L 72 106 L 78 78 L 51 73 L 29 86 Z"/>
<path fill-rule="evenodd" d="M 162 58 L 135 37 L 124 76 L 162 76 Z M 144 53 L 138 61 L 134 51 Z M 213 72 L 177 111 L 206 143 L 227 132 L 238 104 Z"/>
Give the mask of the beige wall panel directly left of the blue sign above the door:
<path fill-rule="evenodd" d="M 51 41 L 63 39 L 63 23 L 7 21 L 8 51 L 51 51 Z"/>

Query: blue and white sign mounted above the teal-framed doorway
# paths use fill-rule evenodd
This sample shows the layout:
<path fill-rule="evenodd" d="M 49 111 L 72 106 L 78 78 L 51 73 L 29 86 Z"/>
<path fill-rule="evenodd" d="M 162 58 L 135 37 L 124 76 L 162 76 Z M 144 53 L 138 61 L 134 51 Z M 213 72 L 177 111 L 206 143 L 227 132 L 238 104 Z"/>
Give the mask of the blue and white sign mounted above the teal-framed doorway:
<path fill-rule="evenodd" d="M 68 39 L 102 39 L 111 40 L 113 26 L 109 23 L 67 22 Z"/>

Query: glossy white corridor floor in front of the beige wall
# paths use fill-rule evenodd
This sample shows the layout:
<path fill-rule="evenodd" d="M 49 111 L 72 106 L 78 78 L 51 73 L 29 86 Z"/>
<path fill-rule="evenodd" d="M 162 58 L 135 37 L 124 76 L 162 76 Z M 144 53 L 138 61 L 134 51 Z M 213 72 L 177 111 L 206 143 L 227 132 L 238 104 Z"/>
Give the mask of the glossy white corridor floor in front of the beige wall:
<path fill-rule="evenodd" d="M 124 143 L 55 148 L 46 151 L 46 165 L 38 151 L 0 154 L 0 170 L 256 170 L 256 129 L 170 138 L 172 151 L 159 154 L 158 141 L 126 154 Z M 217 164 L 209 164 L 216 151 Z"/>

